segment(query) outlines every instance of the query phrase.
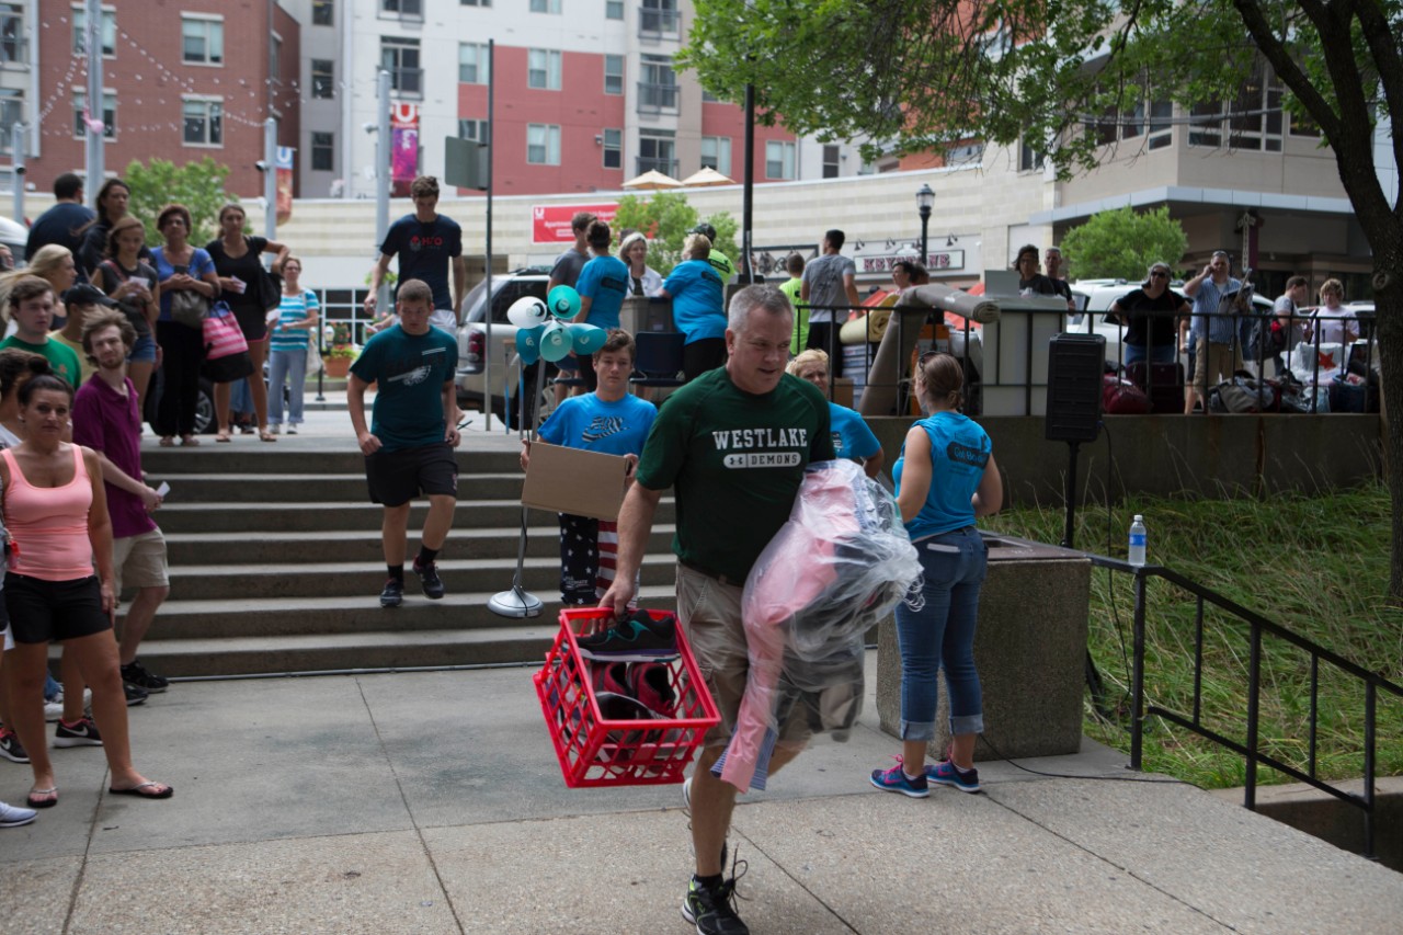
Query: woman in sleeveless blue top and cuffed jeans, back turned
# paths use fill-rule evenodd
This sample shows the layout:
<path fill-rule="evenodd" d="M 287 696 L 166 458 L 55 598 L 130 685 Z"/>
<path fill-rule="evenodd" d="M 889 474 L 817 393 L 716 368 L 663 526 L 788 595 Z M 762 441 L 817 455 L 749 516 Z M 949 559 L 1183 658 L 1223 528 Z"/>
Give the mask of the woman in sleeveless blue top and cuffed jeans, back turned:
<path fill-rule="evenodd" d="M 979 790 L 974 741 L 984 730 L 984 701 L 974 664 L 974 632 L 979 616 L 989 548 L 975 529 L 975 517 L 1003 505 L 1003 482 L 993 462 L 989 435 L 960 413 L 964 369 L 948 354 L 934 354 L 916 371 L 916 394 L 926 418 L 911 427 L 892 465 L 897 504 L 920 556 L 923 583 L 919 609 L 897 605 L 901 647 L 901 755 L 890 769 L 874 769 L 871 783 L 913 799 L 930 795 L 930 783 Z M 926 765 L 936 737 L 936 678 L 946 671 L 950 734 L 946 758 Z"/>

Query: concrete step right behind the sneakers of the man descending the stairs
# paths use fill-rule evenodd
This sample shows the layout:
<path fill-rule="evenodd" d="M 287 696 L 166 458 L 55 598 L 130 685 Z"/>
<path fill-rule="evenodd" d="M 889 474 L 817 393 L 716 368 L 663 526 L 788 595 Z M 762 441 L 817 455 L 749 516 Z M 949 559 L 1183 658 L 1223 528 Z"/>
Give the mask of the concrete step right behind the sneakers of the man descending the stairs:
<path fill-rule="evenodd" d="M 511 585 L 516 556 L 497 559 L 445 559 L 438 563 L 445 587 L 453 591 L 495 592 Z M 640 577 L 644 584 L 669 584 L 676 562 L 672 555 L 647 556 Z M 418 578 L 405 569 L 405 590 L 418 591 Z M 365 594 L 384 581 L 383 562 L 338 562 L 299 564 L 173 564 L 170 601 L 239 601 L 285 598 L 333 598 Z M 522 563 L 522 587 L 544 599 L 560 587 L 557 552 L 532 556 Z"/>

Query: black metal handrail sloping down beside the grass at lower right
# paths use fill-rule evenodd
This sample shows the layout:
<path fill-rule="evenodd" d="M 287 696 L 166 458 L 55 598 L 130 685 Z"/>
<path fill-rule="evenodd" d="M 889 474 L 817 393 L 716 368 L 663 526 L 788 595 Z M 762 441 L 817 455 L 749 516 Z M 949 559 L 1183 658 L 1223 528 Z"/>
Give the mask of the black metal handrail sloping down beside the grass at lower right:
<path fill-rule="evenodd" d="M 1131 719 L 1131 769 L 1142 768 L 1145 719 L 1149 716 L 1163 717 L 1180 727 L 1190 730 L 1205 740 L 1225 747 L 1246 761 L 1246 778 L 1243 782 L 1243 806 L 1256 811 L 1257 809 L 1257 765 L 1264 765 L 1291 776 L 1313 789 L 1324 792 L 1345 804 L 1350 804 L 1364 816 L 1364 856 L 1374 858 L 1374 779 L 1375 779 L 1375 720 L 1378 692 L 1385 691 L 1403 699 L 1403 687 L 1389 681 L 1378 672 L 1351 663 L 1343 656 L 1315 643 L 1299 633 L 1292 633 L 1280 623 L 1274 623 L 1256 611 L 1242 606 L 1216 591 L 1188 580 L 1173 569 L 1157 564 L 1134 566 L 1121 559 L 1111 559 L 1101 555 L 1085 553 L 1092 564 L 1111 571 L 1121 571 L 1135 577 L 1135 616 L 1134 616 L 1134 649 L 1131 671 L 1131 699 L 1134 713 Z M 1145 587 L 1149 578 L 1163 578 L 1164 581 L 1188 591 L 1195 598 L 1194 615 L 1194 710 L 1191 715 L 1176 712 L 1160 705 L 1145 703 Z M 1249 663 L 1247 663 L 1247 727 L 1244 743 L 1226 737 L 1202 723 L 1202 672 L 1204 672 L 1204 604 L 1211 604 L 1221 611 L 1246 623 Z M 1261 698 L 1261 637 L 1273 636 L 1310 657 L 1310 724 L 1309 724 L 1309 752 L 1306 769 L 1298 769 L 1291 764 L 1263 752 L 1260 750 L 1260 698 Z M 1320 685 L 1320 663 L 1336 667 L 1340 672 L 1358 679 L 1364 685 L 1364 795 L 1347 792 L 1338 786 L 1324 782 L 1316 775 L 1316 733 L 1319 726 L 1317 692 Z"/>

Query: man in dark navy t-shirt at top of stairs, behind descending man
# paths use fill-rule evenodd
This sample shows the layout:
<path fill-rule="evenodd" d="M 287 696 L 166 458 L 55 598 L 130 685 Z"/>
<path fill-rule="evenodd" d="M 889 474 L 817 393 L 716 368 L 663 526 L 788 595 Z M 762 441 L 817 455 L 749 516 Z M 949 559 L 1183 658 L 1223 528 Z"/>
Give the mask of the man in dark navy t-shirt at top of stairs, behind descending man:
<path fill-rule="evenodd" d="M 365 296 L 366 314 L 375 317 L 376 296 L 390 260 L 400 257 L 400 282 L 418 279 L 434 291 L 434 314 L 429 324 L 457 337 L 459 314 L 467 293 L 467 260 L 463 257 L 463 229 L 452 218 L 438 213 L 438 180 L 419 175 L 410 184 L 414 213 L 404 215 L 384 234 L 380 260 L 370 271 L 370 293 Z M 453 291 L 449 293 L 448 271 L 453 270 Z M 376 330 L 393 324 L 382 321 Z"/>

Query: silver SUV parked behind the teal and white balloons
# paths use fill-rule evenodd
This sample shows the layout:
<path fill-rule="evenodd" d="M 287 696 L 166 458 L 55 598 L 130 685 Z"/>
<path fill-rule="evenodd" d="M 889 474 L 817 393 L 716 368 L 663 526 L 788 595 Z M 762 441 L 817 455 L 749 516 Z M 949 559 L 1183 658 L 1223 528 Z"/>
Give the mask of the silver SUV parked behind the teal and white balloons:
<path fill-rule="evenodd" d="M 506 320 L 506 310 L 512 303 L 523 296 L 535 296 L 546 300 L 546 284 L 550 282 L 550 270 L 544 267 L 530 267 L 513 270 L 506 275 L 492 277 L 492 345 L 487 347 L 487 281 L 478 282 L 463 300 L 467 313 L 463 326 L 457 330 L 457 404 L 464 409 L 487 410 L 497 416 L 504 411 L 511 413 L 509 421 L 515 423 L 518 414 L 519 386 L 525 385 L 528 392 L 535 390 L 536 368 L 533 364 L 526 368 L 525 379 L 518 380 L 516 357 L 506 354 L 508 340 L 516 337 L 516 326 Z M 485 361 L 491 357 L 492 386 L 484 390 Z M 550 393 L 549 379 L 556 375 L 556 366 L 546 364 L 547 393 Z M 484 402 L 490 400 L 490 402 Z M 504 410 L 504 404 L 509 409 Z M 533 418 L 539 406 L 529 404 L 529 417 Z"/>

